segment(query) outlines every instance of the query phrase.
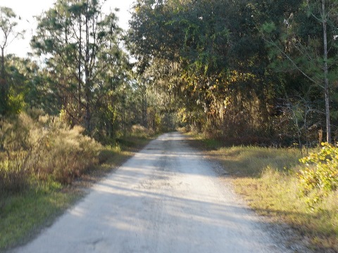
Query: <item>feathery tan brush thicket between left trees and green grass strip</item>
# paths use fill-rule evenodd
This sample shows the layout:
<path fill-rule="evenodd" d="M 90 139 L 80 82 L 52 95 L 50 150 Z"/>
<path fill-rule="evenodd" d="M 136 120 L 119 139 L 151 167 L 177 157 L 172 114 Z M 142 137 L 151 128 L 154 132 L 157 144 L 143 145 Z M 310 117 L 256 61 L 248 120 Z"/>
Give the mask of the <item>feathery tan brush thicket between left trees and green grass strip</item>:
<path fill-rule="evenodd" d="M 94 167 L 102 146 L 83 131 L 36 110 L 2 120 L 0 190 L 20 191 L 39 181 L 71 183 Z"/>

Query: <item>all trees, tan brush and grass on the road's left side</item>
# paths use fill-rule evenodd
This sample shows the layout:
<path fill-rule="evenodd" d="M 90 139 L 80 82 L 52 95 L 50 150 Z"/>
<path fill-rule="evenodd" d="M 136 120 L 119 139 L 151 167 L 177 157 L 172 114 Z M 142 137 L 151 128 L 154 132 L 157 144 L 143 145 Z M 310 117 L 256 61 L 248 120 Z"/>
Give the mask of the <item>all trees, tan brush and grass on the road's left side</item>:
<path fill-rule="evenodd" d="M 20 15 L 0 6 L 0 251 L 173 128 L 174 112 L 130 63 L 117 10 L 103 5 L 56 0 L 37 15 L 27 38 L 36 58 L 6 54 L 26 34 Z"/>

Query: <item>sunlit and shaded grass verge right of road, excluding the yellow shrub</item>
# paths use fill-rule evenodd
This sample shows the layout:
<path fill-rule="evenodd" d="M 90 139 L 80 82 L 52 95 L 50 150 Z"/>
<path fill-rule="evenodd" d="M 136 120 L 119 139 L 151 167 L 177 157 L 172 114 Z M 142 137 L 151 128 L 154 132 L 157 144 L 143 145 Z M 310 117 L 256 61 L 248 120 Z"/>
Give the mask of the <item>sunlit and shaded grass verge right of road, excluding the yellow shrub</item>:
<path fill-rule="evenodd" d="M 191 136 L 192 143 L 223 165 L 234 188 L 258 214 L 287 223 L 317 252 L 338 252 L 338 192 L 315 206 L 301 196 L 297 172 L 303 164 L 295 148 L 234 146 Z M 212 146 L 210 143 L 215 143 Z"/>

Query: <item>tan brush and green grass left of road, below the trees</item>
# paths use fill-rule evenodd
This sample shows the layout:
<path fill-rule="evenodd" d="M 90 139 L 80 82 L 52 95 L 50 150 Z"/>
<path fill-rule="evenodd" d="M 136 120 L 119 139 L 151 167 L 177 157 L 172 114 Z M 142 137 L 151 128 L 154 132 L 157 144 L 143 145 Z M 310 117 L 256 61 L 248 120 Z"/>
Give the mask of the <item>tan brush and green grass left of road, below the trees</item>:
<path fill-rule="evenodd" d="M 33 110 L 0 124 L 0 251 L 32 238 L 87 188 L 142 148 L 143 126 L 113 145 L 70 128 L 62 117 Z"/>

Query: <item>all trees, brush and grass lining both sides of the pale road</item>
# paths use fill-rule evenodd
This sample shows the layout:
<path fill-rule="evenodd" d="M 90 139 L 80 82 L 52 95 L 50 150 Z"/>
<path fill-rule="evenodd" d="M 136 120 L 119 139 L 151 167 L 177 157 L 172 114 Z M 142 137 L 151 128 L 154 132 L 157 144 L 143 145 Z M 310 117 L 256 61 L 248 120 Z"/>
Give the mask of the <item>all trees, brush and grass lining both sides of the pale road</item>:
<path fill-rule="evenodd" d="M 5 54 L 27 34 L 0 6 L 0 249 L 180 126 L 251 207 L 338 251 L 338 2 L 139 0 L 128 31 L 103 6 L 55 0 L 35 58 Z"/>

